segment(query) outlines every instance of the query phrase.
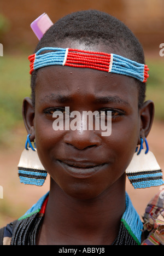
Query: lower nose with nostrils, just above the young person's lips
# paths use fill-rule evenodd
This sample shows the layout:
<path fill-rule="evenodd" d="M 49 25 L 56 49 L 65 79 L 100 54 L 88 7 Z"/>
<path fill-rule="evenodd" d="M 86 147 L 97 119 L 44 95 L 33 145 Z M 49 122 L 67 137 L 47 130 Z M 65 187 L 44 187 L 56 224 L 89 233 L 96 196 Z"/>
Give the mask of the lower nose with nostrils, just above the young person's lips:
<path fill-rule="evenodd" d="M 64 142 L 80 150 L 101 145 L 101 138 L 95 131 L 69 131 L 65 134 Z"/>

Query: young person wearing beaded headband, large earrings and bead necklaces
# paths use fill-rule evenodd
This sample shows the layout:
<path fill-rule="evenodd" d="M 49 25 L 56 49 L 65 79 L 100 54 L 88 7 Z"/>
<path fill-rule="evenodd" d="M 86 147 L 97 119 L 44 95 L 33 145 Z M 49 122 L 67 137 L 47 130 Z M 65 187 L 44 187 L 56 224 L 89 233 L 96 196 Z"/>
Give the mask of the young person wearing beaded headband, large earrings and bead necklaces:
<path fill-rule="evenodd" d="M 148 67 L 138 39 L 96 10 L 65 16 L 39 39 L 29 57 L 32 95 L 23 104 L 28 136 L 19 177 L 42 185 L 48 172 L 50 191 L 1 231 L 3 244 L 161 245 L 163 200 L 155 197 L 142 223 L 125 191 L 126 174 L 134 188 L 163 184 L 146 139 L 154 103 L 145 102 Z M 110 136 L 94 124 L 83 129 L 83 118 L 71 129 L 74 111 L 96 111 L 106 124 L 110 113 Z M 63 129 L 53 129 L 54 120 Z"/>

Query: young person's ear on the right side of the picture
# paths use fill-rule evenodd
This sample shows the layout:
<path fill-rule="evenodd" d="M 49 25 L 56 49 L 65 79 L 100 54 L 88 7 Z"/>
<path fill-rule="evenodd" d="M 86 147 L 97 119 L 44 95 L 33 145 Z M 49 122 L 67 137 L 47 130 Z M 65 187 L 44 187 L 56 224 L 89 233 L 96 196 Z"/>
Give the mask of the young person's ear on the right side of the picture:
<path fill-rule="evenodd" d="M 140 137 L 143 139 L 148 136 L 154 120 L 154 103 L 145 101 L 140 112 Z M 140 138 L 139 138 L 140 141 Z"/>

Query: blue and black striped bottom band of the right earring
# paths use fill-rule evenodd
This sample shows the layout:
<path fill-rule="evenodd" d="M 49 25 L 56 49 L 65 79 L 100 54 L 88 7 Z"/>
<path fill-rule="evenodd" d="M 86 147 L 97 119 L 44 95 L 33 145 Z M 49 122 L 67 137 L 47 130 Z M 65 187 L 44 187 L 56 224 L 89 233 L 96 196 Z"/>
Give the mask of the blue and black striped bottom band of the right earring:
<path fill-rule="evenodd" d="M 130 183 L 135 189 L 150 188 L 163 184 L 162 170 L 142 171 L 136 173 L 126 173 Z"/>

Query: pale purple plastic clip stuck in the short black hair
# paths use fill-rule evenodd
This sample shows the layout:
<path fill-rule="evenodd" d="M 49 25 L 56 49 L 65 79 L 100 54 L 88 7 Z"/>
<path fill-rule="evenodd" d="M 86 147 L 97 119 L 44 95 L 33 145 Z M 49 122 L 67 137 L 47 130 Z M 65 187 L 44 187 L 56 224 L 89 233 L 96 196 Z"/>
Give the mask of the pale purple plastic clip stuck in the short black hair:
<path fill-rule="evenodd" d="M 40 40 L 44 33 L 53 25 L 49 16 L 46 13 L 40 15 L 31 24 L 33 32 L 36 34 L 37 38 Z"/>

